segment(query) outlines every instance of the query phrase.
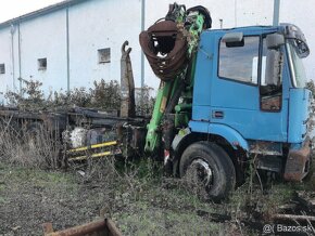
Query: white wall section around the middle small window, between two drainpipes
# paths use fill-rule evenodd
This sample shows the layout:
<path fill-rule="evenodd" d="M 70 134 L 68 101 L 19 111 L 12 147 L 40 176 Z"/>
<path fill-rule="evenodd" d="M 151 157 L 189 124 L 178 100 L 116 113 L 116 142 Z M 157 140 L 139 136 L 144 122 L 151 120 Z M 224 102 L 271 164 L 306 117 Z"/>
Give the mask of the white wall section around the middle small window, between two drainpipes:
<path fill-rule="evenodd" d="M 43 15 L 22 23 L 21 78 L 39 80 L 45 91 L 66 89 L 66 28 L 65 11 Z M 18 29 L 15 32 L 18 38 Z M 16 47 L 18 49 L 18 45 Z M 16 57 L 18 57 L 16 50 Z M 38 60 L 47 58 L 47 69 L 38 69 Z M 18 66 L 16 75 L 18 75 Z M 23 84 L 24 86 L 24 84 Z"/>

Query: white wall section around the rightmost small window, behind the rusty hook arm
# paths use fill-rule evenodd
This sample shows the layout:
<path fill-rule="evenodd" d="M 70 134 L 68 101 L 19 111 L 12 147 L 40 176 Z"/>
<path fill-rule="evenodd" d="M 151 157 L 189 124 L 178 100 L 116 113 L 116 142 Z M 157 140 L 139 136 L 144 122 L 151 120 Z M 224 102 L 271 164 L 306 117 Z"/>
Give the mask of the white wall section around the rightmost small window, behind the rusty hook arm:
<path fill-rule="evenodd" d="M 93 0 L 70 11 L 71 88 L 91 87 L 94 80 L 121 79 L 121 47 L 134 49 L 137 86 L 140 78 L 140 6 L 138 0 Z M 130 8 L 133 6 L 133 8 Z M 124 12 L 121 14 L 121 12 Z M 98 50 L 111 48 L 111 62 L 99 64 Z"/>

